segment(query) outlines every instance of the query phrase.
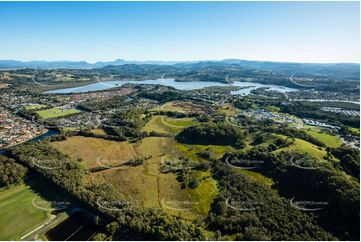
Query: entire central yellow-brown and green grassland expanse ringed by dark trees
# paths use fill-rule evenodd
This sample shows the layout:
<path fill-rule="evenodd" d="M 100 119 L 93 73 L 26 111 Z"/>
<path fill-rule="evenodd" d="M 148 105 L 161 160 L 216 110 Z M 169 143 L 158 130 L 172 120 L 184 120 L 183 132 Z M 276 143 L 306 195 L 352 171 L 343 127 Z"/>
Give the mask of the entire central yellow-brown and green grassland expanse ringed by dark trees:
<path fill-rule="evenodd" d="M 196 189 L 182 189 L 173 173 L 161 173 L 164 158 L 181 155 L 170 137 L 147 137 L 140 143 L 107 141 L 99 138 L 74 136 L 53 145 L 72 159 L 81 158 L 86 167 L 96 167 L 97 157 L 122 159 L 150 157 L 143 165 L 136 167 L 120 166 L 114 169 L 90 173 L 88 182 L 112 184 L 126 200 L 145 208 L 162 208 L 169 214 L 193 220 L 206 216 L 210 204 L 218 190 L 209 172 Z"/>

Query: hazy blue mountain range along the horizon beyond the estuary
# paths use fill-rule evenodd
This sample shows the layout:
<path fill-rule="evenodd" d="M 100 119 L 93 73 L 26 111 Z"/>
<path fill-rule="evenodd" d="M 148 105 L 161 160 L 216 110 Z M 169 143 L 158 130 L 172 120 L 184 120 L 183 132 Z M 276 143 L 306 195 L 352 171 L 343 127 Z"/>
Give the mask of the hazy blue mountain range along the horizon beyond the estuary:
<path fill-rule="evenodd" d="M 126 61 L 117 59 L 108 62 L 88 63 L 86 61 L 15 61 L 0 60 L 0 70 L 4 69 L 24 69 L 24 68 L 40 68 L 40 69 L 92 69 L 92 68 L 116 68 L 122 65 L 175 65 L 177 67 L 219 67 L 236 65 L 242 68 L 259 69 L 265 71 L 273 71 L 284 74 L 306 73 L 320 74 L 334 77 L 343 77 L 355 79 L 360 75 L 360 64 L 357 63 L 293 63 L 293 62 L 272 62 L 272 61 L 247 61 L 239 59 L 225 59 L 220 61 Z"/>

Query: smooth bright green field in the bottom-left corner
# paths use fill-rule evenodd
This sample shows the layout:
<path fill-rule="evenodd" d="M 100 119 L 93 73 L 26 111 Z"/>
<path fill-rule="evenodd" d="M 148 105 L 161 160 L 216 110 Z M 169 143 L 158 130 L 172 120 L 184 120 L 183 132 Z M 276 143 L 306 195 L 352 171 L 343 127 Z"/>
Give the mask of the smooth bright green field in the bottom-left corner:
<path fill-rule="evenodd" d="M 0 240 L 20 240 L 47 221 L 49 212 L 36 208 L 33 199 L 46 204 L 30 186 L 19 185 L 0 192 Z"/>

